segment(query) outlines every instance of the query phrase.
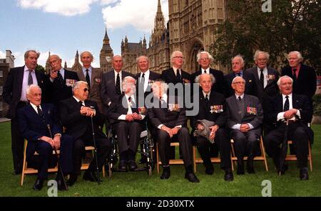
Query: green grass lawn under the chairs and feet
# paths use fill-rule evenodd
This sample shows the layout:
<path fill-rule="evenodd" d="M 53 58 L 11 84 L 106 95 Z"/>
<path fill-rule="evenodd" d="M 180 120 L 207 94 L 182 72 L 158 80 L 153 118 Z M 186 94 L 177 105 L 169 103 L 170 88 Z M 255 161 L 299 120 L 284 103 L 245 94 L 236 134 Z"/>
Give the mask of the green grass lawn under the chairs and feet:
<path fill-rule="evenodd" d="M 261 196 L 263 180 L 272 183 L 272 196 L 321 196 L 321 126 L 313 125 L 315 144 L 312 146 L 313 172 L 309 171 L 310 179 L 301 181 L 296 162 L 288 162 L 289 170 L 285 175 L 278 176 L 272 160 L 268 158 L 270 171 L 265 171 L 263 162 L 255 161 L 253 175 L 236 175 L 233 182 L 225 182 L 224 172 L 219 164 L 215 164 L 214 175 L 205 175 L 202 164 L 197 166 L 200 183 L 190 183 L 184 179 L 183 166 L 171 166 L 169 180 L 161 180 L 156 169 L 150 177 L 146 172 L 113 173 L 112 178 L 103 178 L 103 183 L 91 183 L 78 178 L 75 185 L 68 191 L 59 191 L 58 196 Z M 10 123 L 0 124 L 0 196 L 47 196 L 48 187 L 41 191 L 32 190 L 36 175 L 26 175 L 24 186 L 20 186 L 21 175 L 13 175 L 11 156 Z M 54 179 L 55 174 L 49 175 Z"/>

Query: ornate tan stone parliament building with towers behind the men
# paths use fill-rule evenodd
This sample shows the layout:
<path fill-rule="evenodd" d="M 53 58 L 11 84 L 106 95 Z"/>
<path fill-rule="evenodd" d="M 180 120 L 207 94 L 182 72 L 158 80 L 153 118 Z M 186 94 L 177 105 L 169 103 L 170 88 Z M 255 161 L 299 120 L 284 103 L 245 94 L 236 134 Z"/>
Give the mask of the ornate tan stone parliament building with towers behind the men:
<path fill-rule="evenodd" d="M 133 74 L 139 72 L 136 58 L 146 55 L 150 60 L 150 70 L 161 73 L 171 66 L 170 54 L 180 50 L 185 57 L 183 70 L 195 72 L 198 70 L 196 55 L 202 50 L 210 50 L 210 45 L 215 41 L 215 28 L 227 18 L 225 4 L 225 0 L 168 0 L 169 20 L 165 23 L 161 1 L 158 0 L 154 28 L 148 45 L 145 37 L 139 43 L 129 42 L 127 36 L 121 41 L 123 70 Z M 111 70 L 112 57 L 113 50 L 106 29 L 100 53 L 103 72 Z M 220 65 L 213 67 L 224 69 Z M 73 67 L 68 69 L 81 70 L 78 51 Z"/>

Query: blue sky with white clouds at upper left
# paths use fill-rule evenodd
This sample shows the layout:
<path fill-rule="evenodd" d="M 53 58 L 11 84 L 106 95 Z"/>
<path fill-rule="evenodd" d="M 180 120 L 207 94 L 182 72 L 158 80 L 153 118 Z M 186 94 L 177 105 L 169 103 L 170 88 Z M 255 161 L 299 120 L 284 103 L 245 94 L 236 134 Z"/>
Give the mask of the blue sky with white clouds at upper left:
<path fill-rule="evenodd" d="M 93 53 L 93 67 L 99 67 L 105 26 L 114 54 L 121 54 L 121 40 L 138 43 L 153 28 L 158 0 L 1 0 L 0 58 L 6 50 L 15 56 L 15 66 L 24 65 L 24 52 L 41 52 L 40 65 L 49 51 L 74 63 L 76 50 Z M 168 1 L 161 0 L 168 20 Z"/>

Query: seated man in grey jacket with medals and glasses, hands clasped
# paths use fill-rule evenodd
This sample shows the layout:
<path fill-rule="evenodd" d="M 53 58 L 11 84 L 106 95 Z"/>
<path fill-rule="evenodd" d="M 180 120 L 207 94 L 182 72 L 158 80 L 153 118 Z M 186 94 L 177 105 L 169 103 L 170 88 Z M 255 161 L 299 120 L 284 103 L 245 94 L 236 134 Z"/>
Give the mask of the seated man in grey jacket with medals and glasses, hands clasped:
<path fill-rule="evenodd" d="M 244 174 L 243 157 L 248 154 L 248 173 L 255 173 L 253 158 L 258 151 L 262 132 L 263 109 L 258 97 L 244 94 L 245 80 L 235 77 L 232 81 L 235 94 L 226 99 L 228 105 L 228 123 L 230 136 L 234 141 L 238 157 L 237 174 Z"/>

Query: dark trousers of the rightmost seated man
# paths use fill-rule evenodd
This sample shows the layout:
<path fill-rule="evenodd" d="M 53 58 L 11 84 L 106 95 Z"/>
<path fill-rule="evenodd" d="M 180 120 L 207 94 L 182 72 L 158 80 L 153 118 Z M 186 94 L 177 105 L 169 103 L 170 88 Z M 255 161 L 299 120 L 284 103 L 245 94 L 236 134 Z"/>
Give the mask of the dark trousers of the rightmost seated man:
<path fill-rule="evenodd" d="M 280 165 L 280 144 L 285 137 L 285 127 L 285 124 L 281 124 L 265 136 L 267 148 L 272 153 L 273 162 L 277 168 Z M 299 168 L 307 167 L 308 136 L 304 127 L 296 122 L 288 125 L 287 140 L 291 139 L 297 155 L 297 166 Z"/>

